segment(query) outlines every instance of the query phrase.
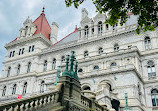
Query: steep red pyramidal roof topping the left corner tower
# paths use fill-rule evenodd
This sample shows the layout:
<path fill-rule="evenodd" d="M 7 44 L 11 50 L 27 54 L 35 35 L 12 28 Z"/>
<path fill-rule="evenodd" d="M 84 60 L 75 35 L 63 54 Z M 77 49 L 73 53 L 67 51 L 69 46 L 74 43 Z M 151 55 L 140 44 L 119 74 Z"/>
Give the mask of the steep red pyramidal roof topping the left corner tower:
<path fill-rule="evenodd" d="M 33 22 L 37 26 L 37 30 L 34 35 L 41 33 L 49 40 L 49 34 L 51 34 L 51 27 L 45 17 L 44 11 L 41 15 Z"/>

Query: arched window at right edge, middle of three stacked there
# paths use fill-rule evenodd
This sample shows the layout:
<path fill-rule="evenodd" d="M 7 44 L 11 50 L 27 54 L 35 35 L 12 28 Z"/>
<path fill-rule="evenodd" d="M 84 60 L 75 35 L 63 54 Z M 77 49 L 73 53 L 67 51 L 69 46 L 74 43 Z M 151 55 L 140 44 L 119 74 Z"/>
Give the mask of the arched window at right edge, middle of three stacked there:
<path fill-rule="evenodd" d="M 156 76 L 155 65 L 153 61 L 148 61 L 147 63 L 148 77 L 149 79 Z"/>

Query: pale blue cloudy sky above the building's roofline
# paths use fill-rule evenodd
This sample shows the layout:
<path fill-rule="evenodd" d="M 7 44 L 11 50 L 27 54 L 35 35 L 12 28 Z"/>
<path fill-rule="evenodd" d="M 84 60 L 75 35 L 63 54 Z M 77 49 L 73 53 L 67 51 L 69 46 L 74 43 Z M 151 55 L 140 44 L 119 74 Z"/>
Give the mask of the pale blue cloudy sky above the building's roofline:
<path fill-rule="evenodd" d="M 45 7 L 46 18 L 51 25 L 59 25 L 58 40 L 80 26 L 81 9 L 86 8 L 89 17 L 96 15 L 95 6 L 87 0 L 78 9 L 66 7 L 65 0 L 0 0 L 0 75 L 6 50 L 4 45 L 14 40 L 28 16 L 34 21 Z"/>

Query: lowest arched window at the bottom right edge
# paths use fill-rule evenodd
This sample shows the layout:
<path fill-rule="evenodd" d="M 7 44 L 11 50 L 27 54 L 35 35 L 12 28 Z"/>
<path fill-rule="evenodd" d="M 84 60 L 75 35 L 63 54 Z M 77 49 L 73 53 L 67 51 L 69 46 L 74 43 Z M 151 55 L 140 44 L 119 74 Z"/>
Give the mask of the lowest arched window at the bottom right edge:
<path fill-rule="evenodd" d="M 152 105 L 158 106 L 158 90 L 153 89 L 151 91 L 151 99 L 152 99 Z"/>

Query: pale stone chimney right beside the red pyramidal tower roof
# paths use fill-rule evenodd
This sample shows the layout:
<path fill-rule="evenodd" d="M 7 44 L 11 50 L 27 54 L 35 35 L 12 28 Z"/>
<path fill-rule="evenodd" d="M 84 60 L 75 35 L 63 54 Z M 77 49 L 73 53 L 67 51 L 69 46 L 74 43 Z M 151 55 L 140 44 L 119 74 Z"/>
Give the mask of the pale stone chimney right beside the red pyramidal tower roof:
<path fill-rule="evenodd" d="M 52 30 L 51 30 L 51 37 L 50 40 L 52 41 L 53 44 L 57 42 L 57 36 L 58 36 L 58 24 L 56 22 L 52 23 Z"/>

